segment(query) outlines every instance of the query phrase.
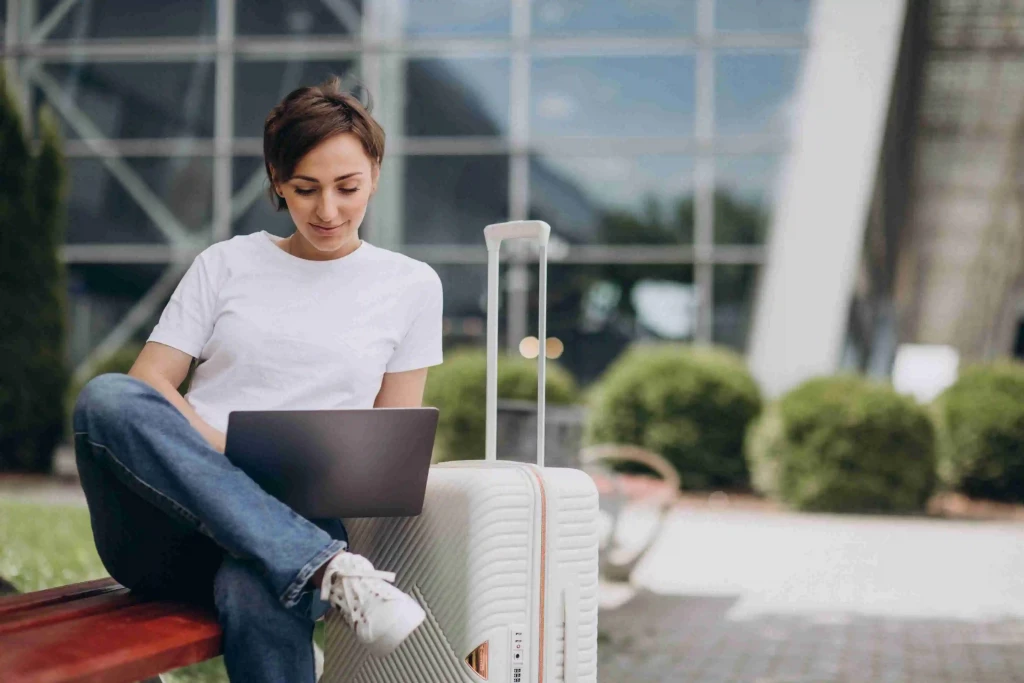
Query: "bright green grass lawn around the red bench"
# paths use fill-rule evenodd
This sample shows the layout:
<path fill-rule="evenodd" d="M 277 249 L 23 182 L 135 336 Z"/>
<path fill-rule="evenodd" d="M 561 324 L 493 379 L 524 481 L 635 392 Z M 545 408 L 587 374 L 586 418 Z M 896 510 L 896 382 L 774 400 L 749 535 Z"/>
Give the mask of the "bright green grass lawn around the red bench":
<path fill-rule="evenodd" d="M 0 577 L 23 593 L 100 579 L 85 508 L 0 500 Z M 226 683 L 221 657 L 164 675 L 173 683 Z"/>

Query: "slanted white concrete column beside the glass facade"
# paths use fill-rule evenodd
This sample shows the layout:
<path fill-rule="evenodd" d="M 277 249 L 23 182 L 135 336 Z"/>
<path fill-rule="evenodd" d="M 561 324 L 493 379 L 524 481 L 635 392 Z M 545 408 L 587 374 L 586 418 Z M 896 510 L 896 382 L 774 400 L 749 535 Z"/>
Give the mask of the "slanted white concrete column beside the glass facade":
<path fill-rule="evenodd" d="M 750 364 L 768 395 L 839 366 L 906 0 L 816 0 Z"/>

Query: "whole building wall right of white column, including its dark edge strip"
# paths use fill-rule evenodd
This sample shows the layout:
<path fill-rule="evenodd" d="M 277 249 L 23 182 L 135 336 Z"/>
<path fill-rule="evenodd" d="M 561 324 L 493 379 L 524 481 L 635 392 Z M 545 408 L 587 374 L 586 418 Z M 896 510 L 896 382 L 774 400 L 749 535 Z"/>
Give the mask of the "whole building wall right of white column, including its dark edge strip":
<path fill-rule="evenodd" d="M 1024 352 L 1024 9 L 908 4 L 848 335 L 878 375 L 899 343 Z"/>

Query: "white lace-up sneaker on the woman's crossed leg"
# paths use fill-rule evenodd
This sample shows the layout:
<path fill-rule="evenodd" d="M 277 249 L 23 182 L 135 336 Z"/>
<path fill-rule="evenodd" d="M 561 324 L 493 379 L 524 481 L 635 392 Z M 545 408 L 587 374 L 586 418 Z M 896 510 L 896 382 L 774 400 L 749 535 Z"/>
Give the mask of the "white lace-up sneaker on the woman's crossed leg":
<path fill-rule="evenodd" d="M 335 556 L 324 570 L 321 599 L 337 607 L 377 656 L 390 654 L 426 618 L 423 607 L 393 582 L 394 572 L 378 571 L 370 560 L 349 552 Z"/>

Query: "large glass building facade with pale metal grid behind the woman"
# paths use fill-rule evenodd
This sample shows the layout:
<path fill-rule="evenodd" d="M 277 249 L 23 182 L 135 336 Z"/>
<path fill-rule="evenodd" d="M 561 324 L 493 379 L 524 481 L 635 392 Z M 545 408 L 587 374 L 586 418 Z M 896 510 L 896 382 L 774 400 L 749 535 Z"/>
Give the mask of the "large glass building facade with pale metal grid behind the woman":
<path fill-rule="evenodd" d="M 143 6 L 144 5 L 144 6 Z M 151 6 L 152 5 L 152 6 Z M 191 258 L 288 234 L 262 125 L 300 85 L 365 88 L 388 132 L 364 236 L 483 339 L 489 222 L 551 223 L 550 334 L 582 382 L 638 339 L 742 350 L 810 0 L 0 0 L 6 68 L 70 157 L 72 354 L 142 340 Z M 510 348 L 536 269 L 511 255 Z"/>

